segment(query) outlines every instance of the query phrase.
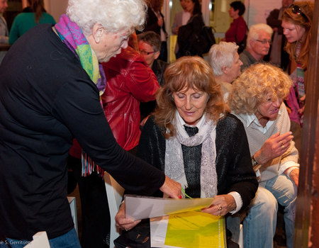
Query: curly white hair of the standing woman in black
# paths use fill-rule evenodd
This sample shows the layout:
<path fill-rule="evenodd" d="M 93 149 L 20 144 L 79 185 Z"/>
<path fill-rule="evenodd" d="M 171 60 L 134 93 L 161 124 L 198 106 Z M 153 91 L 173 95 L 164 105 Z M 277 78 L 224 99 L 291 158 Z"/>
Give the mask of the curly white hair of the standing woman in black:
<path fill-rule="evenodd" d="M 143 0 L 69 0 L 67 16 L 90 35 L 96 23 L 106 33 L 142 30 L 147 6 Z"/>

